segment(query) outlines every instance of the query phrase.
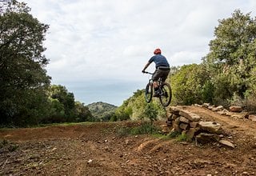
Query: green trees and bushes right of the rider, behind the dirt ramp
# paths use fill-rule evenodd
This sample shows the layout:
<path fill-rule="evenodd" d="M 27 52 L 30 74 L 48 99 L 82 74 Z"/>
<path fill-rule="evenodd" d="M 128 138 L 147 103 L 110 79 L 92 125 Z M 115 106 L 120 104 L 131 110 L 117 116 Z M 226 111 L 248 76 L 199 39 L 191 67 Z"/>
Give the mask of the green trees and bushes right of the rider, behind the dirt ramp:
<path fill-rule="evenodd" d="M 171 77 L 173 103 L 210 102 L 256 110 L 256 21 L 235 10 L 219 23 L 203 62 L 182 66 Z"/>

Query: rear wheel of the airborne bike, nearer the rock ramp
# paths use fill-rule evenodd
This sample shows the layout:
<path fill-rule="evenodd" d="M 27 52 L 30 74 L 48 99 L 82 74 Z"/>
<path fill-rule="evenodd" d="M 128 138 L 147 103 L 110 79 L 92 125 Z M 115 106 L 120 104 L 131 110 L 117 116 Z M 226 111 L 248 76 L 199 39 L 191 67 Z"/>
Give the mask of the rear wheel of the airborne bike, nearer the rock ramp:
<path fill-rule="evenodd" d="M 162 86 L 160 86 L 160 102 L 162 104 L 162 106 L 168 106 L 170 105 L 170 101 L 171 101 L 171 88 L 170 88 L 170 84 L 163 82 Z"/>

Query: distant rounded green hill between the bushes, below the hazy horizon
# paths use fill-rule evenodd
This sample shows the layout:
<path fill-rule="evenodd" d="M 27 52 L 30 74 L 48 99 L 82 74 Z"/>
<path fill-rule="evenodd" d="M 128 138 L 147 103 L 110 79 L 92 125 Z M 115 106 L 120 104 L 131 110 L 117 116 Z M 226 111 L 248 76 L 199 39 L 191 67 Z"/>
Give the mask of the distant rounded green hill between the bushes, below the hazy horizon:
<path fill-rule="evenodd" d="M 114 111 L 118 108 L 118 106 L 106 102 L 94 102 L 87 105 L 87 107 L 95 118 L 100 118 L 104 121 L 109 120 L 114 114 Z"/>

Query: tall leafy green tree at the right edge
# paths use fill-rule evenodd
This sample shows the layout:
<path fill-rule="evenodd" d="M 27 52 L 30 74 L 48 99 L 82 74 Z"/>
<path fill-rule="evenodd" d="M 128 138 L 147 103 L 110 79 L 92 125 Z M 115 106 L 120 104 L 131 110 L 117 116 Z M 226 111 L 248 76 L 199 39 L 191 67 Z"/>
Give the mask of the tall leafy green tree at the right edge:
<path fill-rule="evenodd" d="M 231 18 L 219 20 L 214 36 L 205 62 L 217 84 L 215 87 L 223 88 L 217 94 L 228 91 L 219 98 L 232 98 L 233 94 L 245 98 L 246 90 L 250 89 L 251 70 L 256 66 L 256 20 L 250 14 L 234 10 Z"/>

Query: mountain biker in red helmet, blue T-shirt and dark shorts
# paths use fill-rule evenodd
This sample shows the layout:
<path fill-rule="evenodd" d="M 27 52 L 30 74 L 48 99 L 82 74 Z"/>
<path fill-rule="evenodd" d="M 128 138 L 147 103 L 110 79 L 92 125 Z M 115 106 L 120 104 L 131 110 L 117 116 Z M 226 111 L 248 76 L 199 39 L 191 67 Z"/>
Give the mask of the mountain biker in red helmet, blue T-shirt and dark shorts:
<path fill-rule="evenodd" d="M 159 97 L 159 87 L 158 87 L 158 79 L 162 78 L 162 81 L 166 81 L 166 78 L 170 72 L 170 65 L 166 59 L 161 54 L 161 50 L 159 48 L 154 50 L 154 56 L 150 58 L 150 60 L 144 66 L 142 73 L 145 73 L 145 70 L 152 62 L 155 63 L 155 71 L 152 75 L 153 86 L 154 86 L 154 97 Z"/>

